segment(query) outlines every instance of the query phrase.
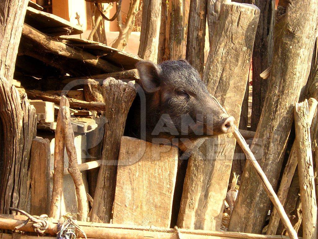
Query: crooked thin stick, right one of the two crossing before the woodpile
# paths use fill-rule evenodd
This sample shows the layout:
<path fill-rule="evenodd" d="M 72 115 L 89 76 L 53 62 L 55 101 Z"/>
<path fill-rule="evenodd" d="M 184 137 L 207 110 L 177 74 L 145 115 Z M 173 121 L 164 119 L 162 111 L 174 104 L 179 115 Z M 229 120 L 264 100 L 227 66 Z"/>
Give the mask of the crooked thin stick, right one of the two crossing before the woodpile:
<path fill-rule="evenodd" d="M 77 199 L 77 220 L 86 221 L 88 215 L 88 201 L 86 190 L 77 163 L 77 154 L 74 145 L 74 132 L 71 125 L 71 114 L 68 106 L 60 107 L 59 111 L 64 133 L 64 142 L 68 156 L 68 172 L 73 178 Z"/>

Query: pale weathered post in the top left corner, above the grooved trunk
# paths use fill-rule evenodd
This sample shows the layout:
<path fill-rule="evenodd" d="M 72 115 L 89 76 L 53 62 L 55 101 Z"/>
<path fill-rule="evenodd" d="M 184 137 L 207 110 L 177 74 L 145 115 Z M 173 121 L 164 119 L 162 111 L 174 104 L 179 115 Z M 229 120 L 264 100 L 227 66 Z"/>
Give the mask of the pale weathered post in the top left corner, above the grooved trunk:
<path fill-rule="evenodd" d="M 28 0 L 3 0 L 0 3 L 0 75 L 10 83 L 18 53 Z"/>

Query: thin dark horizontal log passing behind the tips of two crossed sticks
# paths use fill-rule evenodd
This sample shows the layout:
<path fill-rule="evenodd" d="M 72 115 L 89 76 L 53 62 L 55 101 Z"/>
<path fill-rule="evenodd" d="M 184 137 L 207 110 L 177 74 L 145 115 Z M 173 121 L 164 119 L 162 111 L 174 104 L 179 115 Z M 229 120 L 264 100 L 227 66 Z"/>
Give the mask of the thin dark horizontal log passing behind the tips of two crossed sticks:
<path fill-rule="evenodd" d="M 59 101 L 61 99 L 60 96 L 51 95 L 38 90 L 26 90 L 26 93 L 31 99 L 41 99 L 43 101 L 54 102 L 55 104 L 59 104 Z M 85 108 L 89 110 L 105 111 L 105 103 L 87 102 L 72 98 L 67 98 L 67 100 L 69 101 L 69 104 L 72 108 Z"/>

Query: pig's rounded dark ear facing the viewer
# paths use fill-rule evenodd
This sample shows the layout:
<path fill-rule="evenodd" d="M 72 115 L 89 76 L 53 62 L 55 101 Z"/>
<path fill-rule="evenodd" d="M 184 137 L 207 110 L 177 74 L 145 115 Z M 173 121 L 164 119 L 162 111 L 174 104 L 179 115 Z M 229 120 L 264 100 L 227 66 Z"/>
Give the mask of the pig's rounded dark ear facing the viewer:
<path fill-rule="evenodd" d="M 160 88 L 160 74 L 161 67 L 150 61 L 141 61 L 136 64 L 138 69 L 140 83 L 142 88 L 148 92 L 152 93 Z"/>

